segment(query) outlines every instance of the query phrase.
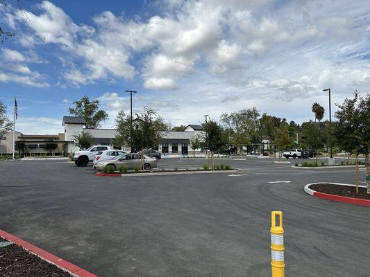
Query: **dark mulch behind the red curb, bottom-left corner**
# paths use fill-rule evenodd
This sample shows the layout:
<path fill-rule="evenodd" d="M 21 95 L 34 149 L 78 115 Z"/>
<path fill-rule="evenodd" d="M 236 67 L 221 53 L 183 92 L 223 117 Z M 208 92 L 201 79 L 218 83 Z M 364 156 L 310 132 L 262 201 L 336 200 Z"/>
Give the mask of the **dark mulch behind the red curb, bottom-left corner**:
<path fill-rule="evenodd" d="M 0 237 L 0 242 L 6 242 Z M 73 277 L 56 265 L 11 244 L 0 247 L 0 277 Z"/>

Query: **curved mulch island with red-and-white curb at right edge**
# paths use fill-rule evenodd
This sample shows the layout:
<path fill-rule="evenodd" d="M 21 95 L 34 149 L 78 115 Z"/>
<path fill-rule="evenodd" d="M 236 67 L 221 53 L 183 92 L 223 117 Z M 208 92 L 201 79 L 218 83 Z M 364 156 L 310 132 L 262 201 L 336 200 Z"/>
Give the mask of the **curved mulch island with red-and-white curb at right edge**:
<path fill-rule="evenodd" d="M 314 197 L 320 197 L 337 202 L 370 206 L 370 195 L 367 194 L 366 186 L 356 186 L 341 183 L 312 183 L 305 185 L 305 192 Z"/>

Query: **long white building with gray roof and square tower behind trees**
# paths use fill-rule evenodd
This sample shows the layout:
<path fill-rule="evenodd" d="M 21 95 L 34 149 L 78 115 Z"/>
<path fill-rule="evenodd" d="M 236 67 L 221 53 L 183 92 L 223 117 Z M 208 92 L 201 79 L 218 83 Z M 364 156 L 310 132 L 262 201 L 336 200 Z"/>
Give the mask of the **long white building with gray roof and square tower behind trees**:
<path fill-rule="evenodd" d="M 73 136 L 87 132 L 94 138 L 94 145 L 109 145 L 112 148 L 121 148 L 120 145 L 113 145 L 112 140 L 115 139 L 115 129 L 88 129 L 85 128 L 85 120 L 81 117 L 64 116 L 62 125 L 65 127 L 65 143 L 67 143 L 67 153 L 72 153 L 80 150 L 73 142 Z M 158 151 L 165 154 L 190 154 L 194 152 L 190 148 L 190 138 L 194 135 L 201 135 L 201 125 L 188 125 L 184 132 L 169 131 L 165 133 L 162 141 L 158 145 Z M 129 147 L 124 150 L 129 151 Z M 196 152 L 201 152 L 201 149 L 196 149 Z"/>

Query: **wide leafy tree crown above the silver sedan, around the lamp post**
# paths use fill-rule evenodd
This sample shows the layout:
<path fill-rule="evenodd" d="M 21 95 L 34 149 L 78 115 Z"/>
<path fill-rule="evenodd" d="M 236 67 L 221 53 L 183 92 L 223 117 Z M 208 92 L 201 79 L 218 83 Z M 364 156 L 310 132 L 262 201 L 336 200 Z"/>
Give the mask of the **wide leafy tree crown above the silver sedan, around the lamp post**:
<path fill-rule="evenodd" d="M 115 145 L 131 145 L 132 138 L 133 150 L 158 147 L 163 135 L 169 129 L 169 125 L 162 117 L 146 107 L 141 113 L 135 114 L 132 129 L 131 116 L 126 115 L 124 111 L 119 111 L 116 127 Z"/>

